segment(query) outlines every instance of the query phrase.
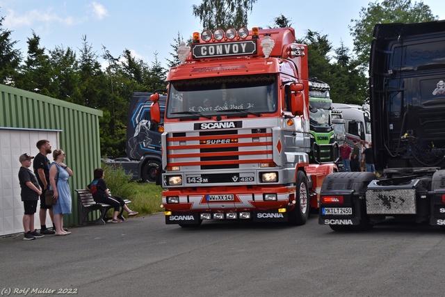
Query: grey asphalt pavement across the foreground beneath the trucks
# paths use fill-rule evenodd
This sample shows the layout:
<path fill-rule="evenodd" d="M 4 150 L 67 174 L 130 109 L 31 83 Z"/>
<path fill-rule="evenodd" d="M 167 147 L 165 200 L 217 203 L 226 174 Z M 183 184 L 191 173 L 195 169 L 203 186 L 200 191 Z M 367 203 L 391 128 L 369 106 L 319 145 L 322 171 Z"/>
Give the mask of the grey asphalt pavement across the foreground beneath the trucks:
<path fill-rule="evenodd" d="M 443 296 L 444 233 L 306 225 L 165 225 L 163 214 L 0 238 L 2 296 Z"/>

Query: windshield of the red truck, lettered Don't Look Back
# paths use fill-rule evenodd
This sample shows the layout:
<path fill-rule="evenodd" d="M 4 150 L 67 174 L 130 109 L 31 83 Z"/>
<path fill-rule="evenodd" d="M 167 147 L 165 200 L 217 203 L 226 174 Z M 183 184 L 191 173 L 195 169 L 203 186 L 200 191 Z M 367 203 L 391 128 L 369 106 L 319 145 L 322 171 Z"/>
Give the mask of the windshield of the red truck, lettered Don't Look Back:
<path fill-rule="evenodd" d="M 171 81 L 167 118 L 212 115 L 259 115 L 277 110 L 277 77 L 273 74 Z"/>

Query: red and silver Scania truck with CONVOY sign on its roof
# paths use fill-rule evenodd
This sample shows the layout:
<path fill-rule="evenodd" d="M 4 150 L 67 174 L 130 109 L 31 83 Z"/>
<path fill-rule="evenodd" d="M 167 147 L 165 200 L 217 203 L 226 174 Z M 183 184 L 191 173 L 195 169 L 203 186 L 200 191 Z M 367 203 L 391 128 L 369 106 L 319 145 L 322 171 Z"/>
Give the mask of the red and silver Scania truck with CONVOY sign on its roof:
<path fill-rule="evenodd" d="M 334 163 L 310 164 L 307 47 L 291 28 L 193 34 L 168 72 L 165 223 L 305 224 Z M 152 120 L 158 95 L 152 95 Z"/>

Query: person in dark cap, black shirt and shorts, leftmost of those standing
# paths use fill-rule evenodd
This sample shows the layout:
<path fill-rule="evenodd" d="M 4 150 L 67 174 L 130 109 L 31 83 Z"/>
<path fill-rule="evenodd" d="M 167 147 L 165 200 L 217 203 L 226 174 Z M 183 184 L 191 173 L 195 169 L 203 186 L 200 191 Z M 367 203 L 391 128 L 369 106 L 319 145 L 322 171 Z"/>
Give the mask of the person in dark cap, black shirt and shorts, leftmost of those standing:
<path fill-rule="evenodd" d="M 20 196 L 24 204 L 23 228 L 25 234 L 23 240 L 33 240 L 36 237 L 43 236 L 34 229 L 34 214 L 37 210 L 39 195 L 42 195 L 42 188 L 40 188 L 34 172 L 29 169 L 31 159 L 34 159 L 34 157 L 29 156 L 29 154 L 19 156 L 19 162 L 22 164 L 19 169 L 19 184 L 22 188 Z"/>

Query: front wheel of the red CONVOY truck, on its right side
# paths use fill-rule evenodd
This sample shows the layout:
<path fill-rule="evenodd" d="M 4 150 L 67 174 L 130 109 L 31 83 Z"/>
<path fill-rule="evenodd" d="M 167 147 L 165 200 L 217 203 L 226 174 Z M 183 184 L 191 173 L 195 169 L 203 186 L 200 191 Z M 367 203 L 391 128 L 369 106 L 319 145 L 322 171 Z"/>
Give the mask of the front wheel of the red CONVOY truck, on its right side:
<path fill-rule="evenodd" d="M 309 217 L 309 189 L 303 172 L 298 171 L 296 183 L 296 206 L 289 211 L 290 225 L 305 225 Z"/>

